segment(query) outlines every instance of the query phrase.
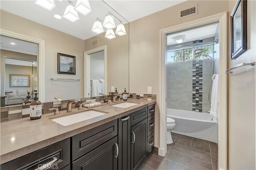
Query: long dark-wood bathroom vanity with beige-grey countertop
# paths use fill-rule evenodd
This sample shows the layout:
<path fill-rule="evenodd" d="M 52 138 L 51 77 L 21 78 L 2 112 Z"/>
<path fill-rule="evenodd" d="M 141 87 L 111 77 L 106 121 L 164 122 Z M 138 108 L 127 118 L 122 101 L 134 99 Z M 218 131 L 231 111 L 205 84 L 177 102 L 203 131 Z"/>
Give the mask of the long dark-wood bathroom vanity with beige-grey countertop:
<path fill-rule="evenodd" d="M 88 125 L 80 122 L 62 126 L 51 121 L 56 116 L 50 113 L 36 121 L 30 121 L 29 118 L 12 121 L 12 123 L 20 123 L 21 128 L 26 131 L 27 136 L 24 138 L 29 136 L 23 138 L 22 142 L 16 142 L 20 134 L 13 131 L 15 128 L 6 129 L 9 132 L 13 131 L 12 134 L 5 132 L 2 134 L 3 128 L 8 127 L 8 122 L 1 123 L 0 168 L 2 170 L 37 169 L 41 166 L 64 170 L 138 168 L 154 147 L 156 101 L 142 99 L 129 101 L 138 105 L 127 108 L 111 105 L 95 107 L 107 114 L 102 120 Z M 65 111 L 60 113 L 67 114 Z M 33 128 L 34 126 L 40 127 L 36 129 Z M 50 128 L 55 128 L 52 129 L 52 134 Z M 9 144 L 8 138 L 13 140 Z M 15 142 L 20 146 L 15 146 Z M 6 147 L 9 149 L 4 149 Z"/>

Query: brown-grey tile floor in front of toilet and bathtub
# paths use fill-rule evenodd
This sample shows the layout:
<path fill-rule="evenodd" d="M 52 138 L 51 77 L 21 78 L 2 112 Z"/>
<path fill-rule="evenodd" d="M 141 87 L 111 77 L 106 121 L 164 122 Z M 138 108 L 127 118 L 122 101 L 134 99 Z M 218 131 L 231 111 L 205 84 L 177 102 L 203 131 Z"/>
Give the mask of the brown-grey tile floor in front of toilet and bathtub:
<path fill-rule="evenodd" d="M 214 142 L 172 133 L 166 156 L 150 154 L 139 170 L 217 170 L 218 145 Z"/>

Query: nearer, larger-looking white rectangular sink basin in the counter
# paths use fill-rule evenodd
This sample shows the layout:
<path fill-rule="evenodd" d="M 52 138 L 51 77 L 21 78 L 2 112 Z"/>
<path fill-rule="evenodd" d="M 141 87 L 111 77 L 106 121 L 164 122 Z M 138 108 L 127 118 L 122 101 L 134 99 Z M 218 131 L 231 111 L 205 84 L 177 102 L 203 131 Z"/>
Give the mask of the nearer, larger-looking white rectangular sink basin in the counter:
<path fill-rule="evenodd" d="M 105 117 L 106 113 L 102 113 L 99 111 L 94 111 L 94 110 L 88 110 L 84 111 L 82 113 L 76 113 L 73 115 L 67 115 L 64 117 L 59 117 L 56 119 L 51 119 L 52 121 L 63 125 L 63 126 L 68 126 L 72 125 L 74 123 L 82 122 L 85 121 L 86 124 L 94 123 L 96 121 L 100 121 Z"/>

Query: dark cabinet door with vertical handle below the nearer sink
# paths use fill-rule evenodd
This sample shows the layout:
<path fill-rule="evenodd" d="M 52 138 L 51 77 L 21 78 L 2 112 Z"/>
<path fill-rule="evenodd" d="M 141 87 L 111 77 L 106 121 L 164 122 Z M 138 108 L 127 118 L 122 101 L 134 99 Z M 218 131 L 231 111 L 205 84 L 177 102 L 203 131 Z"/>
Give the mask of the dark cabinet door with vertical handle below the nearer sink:
<path fill-rule="evenodd" d="M 117 170 L 117 136 L 85 154 L 72 164 L 72 170 Z"/>

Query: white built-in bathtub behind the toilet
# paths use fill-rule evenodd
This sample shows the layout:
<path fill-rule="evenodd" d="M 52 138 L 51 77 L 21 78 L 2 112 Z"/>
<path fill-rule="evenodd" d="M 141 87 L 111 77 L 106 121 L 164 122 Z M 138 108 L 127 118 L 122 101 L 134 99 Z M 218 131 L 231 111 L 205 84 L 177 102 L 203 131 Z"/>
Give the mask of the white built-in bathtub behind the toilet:
<path fill-rule="evenodd" d="M 166 109 L 166 115 L 175 120 L 171 132 L 218 143 L 218 122 L 210 114 Z"/>

